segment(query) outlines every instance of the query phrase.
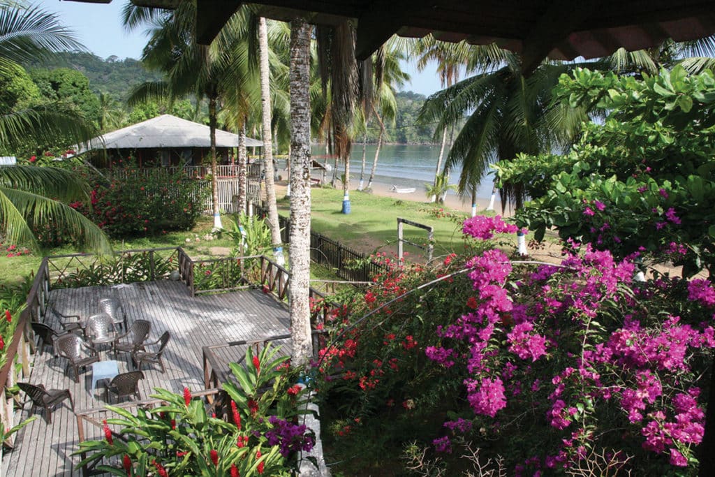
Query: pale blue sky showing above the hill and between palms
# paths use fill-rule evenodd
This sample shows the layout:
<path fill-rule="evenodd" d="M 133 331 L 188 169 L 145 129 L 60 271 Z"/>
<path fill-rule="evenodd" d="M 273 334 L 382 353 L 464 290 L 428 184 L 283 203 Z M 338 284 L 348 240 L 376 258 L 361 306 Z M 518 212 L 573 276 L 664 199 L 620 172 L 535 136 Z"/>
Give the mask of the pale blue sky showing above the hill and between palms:
<path fill-rule="evenodd" d="M 110 4 L 87 4 L 77 1 L 41 0 L 39 5 L 56 14 L 61 23 L 74 31 L 77 39 L 100 58 L 116 55 L 120 59 L 139 59 L 147 39 L 142 31 L 128 34 L 122 28 L 121 12 L 127 1 L 129 0 L 112 0 Z M 412 77 L 412 81 L 403 87 L 405 91 L 429 96 L 441 89 L 435 74 L 435 65 L 423 72 L 417 71 L 414 62 L 407 62 L 403 68 Z"/>

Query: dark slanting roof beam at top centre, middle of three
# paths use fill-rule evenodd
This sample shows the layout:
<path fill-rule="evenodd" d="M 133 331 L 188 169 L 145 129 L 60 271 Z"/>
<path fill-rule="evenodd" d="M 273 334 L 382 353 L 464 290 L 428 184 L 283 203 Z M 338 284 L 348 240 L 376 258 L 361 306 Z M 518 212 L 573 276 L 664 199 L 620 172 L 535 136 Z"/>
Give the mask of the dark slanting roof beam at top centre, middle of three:
<path fill-rule="evenodd" d="M 355 57 L 368 59 L 390 36 L 398 32 L 410 14 L 433 8 L 433 0 L 373 1 L 358 18 L 358 34 L 355 40 Z"/>

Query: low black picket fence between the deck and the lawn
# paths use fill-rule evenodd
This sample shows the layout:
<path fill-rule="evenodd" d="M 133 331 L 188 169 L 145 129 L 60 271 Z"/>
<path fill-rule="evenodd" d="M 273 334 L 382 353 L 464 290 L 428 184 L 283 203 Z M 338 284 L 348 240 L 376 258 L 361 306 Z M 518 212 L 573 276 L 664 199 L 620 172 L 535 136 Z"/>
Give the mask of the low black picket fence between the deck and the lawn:
<path fill-rule="evenodd" d="M 268 215 L 265 207 L 256 207 L 255 213 L 261 218 Z M 290 220 L 278 216 L 280 240 L 290 242 Z M 335 270 L 338 277 L 351 282 L 369 282 L 375 275 L 382 272 L 383 265 L 371 260 L 368 255 L 345 247 L 325 235 L 310 231 L 310 260 Z"/>

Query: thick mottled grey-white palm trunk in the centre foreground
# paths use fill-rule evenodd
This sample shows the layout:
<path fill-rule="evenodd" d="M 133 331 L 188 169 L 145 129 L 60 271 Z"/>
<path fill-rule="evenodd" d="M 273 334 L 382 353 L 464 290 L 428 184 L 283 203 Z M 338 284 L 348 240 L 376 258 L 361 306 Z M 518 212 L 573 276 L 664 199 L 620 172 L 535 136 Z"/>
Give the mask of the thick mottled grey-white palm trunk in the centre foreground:
<path fill-rule="evenodd" d="M 310 28 L 300 20 L 290 29 L 290 330 L 293 363 L 312 359 L 310 329 Z"/>

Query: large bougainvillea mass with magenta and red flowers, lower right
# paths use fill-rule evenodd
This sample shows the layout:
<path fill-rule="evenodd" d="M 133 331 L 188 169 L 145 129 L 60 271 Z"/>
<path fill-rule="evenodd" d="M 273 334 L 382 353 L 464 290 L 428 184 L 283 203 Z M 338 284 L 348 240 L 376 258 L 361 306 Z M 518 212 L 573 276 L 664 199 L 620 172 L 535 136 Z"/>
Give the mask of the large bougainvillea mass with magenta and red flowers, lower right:
<path fill-rule="evenodd" d="M 501 227 L 465 233 L 481 240 Z M 334 324 L 321 352 L 335 448 L 368 434 L 382 445 L 418 441 L 447 475 L 463 469 L 450 459 L 455 440 L 502 456 L 518 476 L 696 475 L 715 288 L 634 282 L 635 255 L 570 249 L 560 264 L 535 266 L 485 247 L 390 274 L 400 290 L 378 278 L 364 297 L 370 312 L 358 313 L 367 318 Z"/>

